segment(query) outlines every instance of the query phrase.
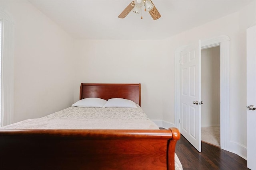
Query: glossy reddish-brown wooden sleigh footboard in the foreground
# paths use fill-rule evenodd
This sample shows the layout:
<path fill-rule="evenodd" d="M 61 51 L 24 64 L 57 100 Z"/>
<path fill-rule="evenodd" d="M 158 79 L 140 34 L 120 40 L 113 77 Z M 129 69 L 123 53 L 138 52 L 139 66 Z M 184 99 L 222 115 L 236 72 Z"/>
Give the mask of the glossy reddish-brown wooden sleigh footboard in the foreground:
<path fill-rule="evenodd" d="M 180 132 L 0 130 L 1 170 L 174 170 Z"/>

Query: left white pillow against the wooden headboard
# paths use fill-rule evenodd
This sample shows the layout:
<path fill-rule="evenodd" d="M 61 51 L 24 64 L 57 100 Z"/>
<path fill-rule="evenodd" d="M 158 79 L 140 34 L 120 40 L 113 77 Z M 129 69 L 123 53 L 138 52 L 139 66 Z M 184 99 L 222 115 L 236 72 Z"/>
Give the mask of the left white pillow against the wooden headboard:
<path fill-rule="evenodd" d="M 79 100 L 78 102 L 72 104 L 72 106 L 76 107 L 102 107 L 104 108 L 104 104 L 106 104 L 106 100 L 101 98 L 85 98 Z"/>

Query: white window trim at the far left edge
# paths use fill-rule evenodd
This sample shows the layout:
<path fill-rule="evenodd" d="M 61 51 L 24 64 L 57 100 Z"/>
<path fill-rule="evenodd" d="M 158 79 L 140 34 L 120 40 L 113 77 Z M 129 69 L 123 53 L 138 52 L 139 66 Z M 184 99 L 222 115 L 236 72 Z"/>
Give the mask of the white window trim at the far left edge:
<path fill-rule="evenodd" d="M 1 126 L 14 122 L 14 22 L 6 10 L 0 8 L 2 20 L 1 59 Z"/>

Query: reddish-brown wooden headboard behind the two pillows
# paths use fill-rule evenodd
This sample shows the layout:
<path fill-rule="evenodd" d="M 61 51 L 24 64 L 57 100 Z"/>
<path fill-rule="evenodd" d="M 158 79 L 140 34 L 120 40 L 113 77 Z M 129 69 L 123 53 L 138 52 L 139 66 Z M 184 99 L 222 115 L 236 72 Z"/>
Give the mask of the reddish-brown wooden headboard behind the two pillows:
<path fill-rule="evenodd" d="M 92 84 L 81 83 L 80 100 L 84 98 L 124 98 L 135 102 L 140 106 L 139 84 Z"/>

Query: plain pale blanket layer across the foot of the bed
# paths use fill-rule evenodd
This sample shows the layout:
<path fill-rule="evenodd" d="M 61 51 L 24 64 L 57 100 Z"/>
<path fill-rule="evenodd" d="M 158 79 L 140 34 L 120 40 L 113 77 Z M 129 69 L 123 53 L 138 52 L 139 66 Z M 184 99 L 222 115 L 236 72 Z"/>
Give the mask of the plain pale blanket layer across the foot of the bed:
<path fill-rule="evenodd" d="M 150 120 L 28 119 L 2 129 L 159 129 Z"/>

